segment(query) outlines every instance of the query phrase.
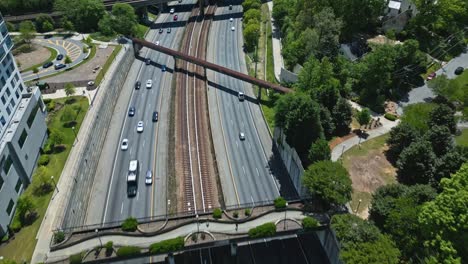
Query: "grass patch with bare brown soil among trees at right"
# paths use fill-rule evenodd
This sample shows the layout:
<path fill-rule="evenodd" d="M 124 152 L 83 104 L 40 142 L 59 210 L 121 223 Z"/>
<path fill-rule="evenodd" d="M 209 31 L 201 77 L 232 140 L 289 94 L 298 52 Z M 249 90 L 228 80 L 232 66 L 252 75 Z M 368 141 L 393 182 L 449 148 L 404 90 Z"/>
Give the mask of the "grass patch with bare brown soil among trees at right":
<path fill-rule="evenodd" d="M 380 186 L 395 183 L 395 168 L 387 161 L 384 151 L 387 149 L 385 134 L 354 146 L 343 154 L 343 166 L 348 170 L 353 182 L 351 208 L 353 212 L 359 204 L 359 215 L 367 217 L 372 193 Z M 359 203 L 361 199 L 361 203 Z"/>

